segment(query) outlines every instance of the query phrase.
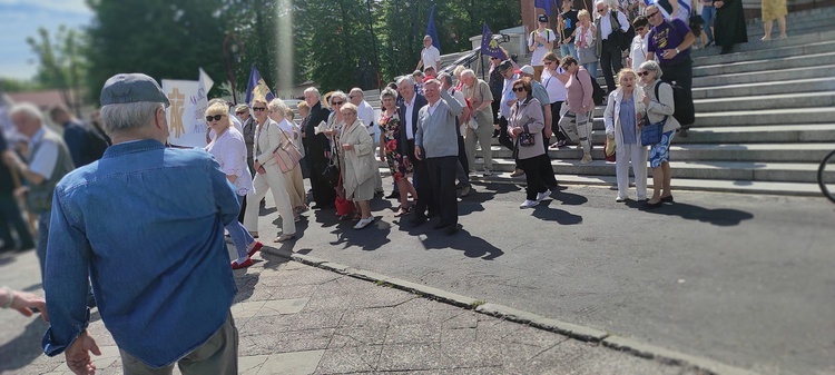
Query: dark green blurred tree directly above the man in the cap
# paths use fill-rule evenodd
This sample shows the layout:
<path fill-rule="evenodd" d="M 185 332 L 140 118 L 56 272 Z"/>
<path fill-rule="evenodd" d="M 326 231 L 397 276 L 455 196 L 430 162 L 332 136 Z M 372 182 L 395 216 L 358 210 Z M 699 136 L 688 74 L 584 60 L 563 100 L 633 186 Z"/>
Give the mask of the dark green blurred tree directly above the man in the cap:
<path fill-rule="evenodd" d="M 203 68 L 225 80 L 225 0 L 88 0 L 95 13 L 87 50 L 87 88 L 98 100 L 105 81 L 120 72 L 196 80 Z M 219 92 L 214 89 L 213 92 Z"/>

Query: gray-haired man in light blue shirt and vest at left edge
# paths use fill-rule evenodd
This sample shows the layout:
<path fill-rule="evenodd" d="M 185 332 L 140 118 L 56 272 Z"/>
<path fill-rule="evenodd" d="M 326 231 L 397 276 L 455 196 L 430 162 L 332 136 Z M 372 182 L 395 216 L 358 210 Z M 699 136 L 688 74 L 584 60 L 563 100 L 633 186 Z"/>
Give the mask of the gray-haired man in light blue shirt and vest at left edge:
<path fill-rule="evenodd" d="M 21 160 L 11 149 L 3 152 L 3 159 L 9 169 L 16 170 L 29 182 L 27 204 L 29 210 L 38 216 L 38 243 L 35 249 L 40 261 L 42 280 L 46 275 L 52 190 L 58 181 L 76 166 L 61 136 L 43 126 L 43 115 L 38 107 L 28 102 L 14 105 L 9 110 L 9 118 L 17 130 L 29 139 L 28 162 Z M 102 207 L 110 207 L 110 205 Z"/>

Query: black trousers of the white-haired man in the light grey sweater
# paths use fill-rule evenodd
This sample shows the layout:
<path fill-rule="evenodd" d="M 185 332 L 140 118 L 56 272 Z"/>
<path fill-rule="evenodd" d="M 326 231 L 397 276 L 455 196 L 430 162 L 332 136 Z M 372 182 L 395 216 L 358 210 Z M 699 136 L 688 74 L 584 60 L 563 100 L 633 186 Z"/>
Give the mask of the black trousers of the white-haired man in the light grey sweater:
<path fill-rule="evenodd" d="M 441 226 L 458 225 L 458 197 L 455 196 L 458 162 L 456 156 L 426 159 L 429 182 L 432 186 Z"/>

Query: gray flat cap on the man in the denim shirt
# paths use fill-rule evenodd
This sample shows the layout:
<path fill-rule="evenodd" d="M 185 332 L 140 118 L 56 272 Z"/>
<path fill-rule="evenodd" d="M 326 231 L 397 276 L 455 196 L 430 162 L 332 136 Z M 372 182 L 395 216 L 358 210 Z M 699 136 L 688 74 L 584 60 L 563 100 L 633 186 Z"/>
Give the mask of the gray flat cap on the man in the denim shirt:
<path fill-rule="evenodd" d="M 101 105 L 127 102 L 161 102 L 170 106 L 163 88 L 154 78 L 143 73 L 119 73 L 110 77 L 101 88 Z"/>

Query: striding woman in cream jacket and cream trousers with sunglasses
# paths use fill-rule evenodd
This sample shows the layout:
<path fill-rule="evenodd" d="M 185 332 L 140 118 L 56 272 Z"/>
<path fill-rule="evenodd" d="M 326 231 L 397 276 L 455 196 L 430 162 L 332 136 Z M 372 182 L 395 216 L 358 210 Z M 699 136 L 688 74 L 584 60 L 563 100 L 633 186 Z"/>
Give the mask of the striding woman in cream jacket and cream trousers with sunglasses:
<path fill-rule="evenodd" d="M 275 241 L 281 243 L 296 236 L 296 224 L 293 220 L 293 206 L 289 201 L 289 195 L 284 181 L 284 174 L 278 168 L 278 162 L 273 157 L 273 150 L 284 140 L 282 129 L 278 124 L 267 117 L 267 103 L 264 99 L 253 100 L 253 112 L 255 121 L 258 122 L 255 129 L 255 154 L 253 168 L 255 169 L 255 180 L 253 180 L 254 191 L 246 196 L 246 214 L 244 214 L 244 226 L 249 229 L 253 237 L 258 236 L 258 205 L 261 199 L 267 195 L 267 190 L 273 190 L 273 199 L 278 215 L 282 216 L 282 235 Z"/>

